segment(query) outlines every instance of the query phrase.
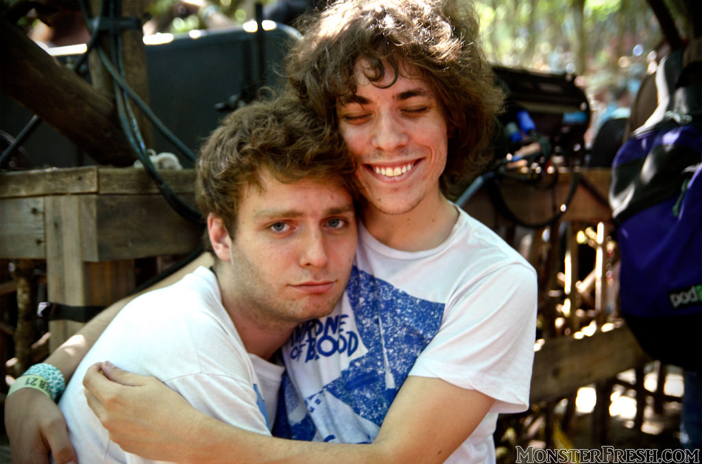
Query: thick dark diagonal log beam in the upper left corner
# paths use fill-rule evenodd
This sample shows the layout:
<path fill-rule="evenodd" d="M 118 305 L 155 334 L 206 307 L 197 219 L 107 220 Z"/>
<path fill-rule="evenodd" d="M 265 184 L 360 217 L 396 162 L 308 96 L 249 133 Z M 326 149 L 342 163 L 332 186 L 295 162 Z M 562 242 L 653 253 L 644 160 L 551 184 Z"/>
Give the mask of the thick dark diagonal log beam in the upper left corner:
<path fill-rule="evenodd" d="M 98 164 L 126 166 L 134 155 L 114 102 L 60 65 L 19 27 L 0 19 L 0 89 L 37 114 Z"/>

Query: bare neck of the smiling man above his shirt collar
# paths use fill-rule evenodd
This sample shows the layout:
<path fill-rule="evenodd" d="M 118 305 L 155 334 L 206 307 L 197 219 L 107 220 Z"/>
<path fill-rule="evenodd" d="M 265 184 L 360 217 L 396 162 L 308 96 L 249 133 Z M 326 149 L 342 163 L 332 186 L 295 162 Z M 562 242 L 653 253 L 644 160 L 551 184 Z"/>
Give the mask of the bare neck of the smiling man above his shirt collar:
<path fill-rule="evenodd" d="M 443 194 L 426 197 L 411 211 L 383 213 L 366 204 L 363 222 L 380 243 L 402 251 L 422 251 L 439 246 L 458 220 L 458 210 Z"/>

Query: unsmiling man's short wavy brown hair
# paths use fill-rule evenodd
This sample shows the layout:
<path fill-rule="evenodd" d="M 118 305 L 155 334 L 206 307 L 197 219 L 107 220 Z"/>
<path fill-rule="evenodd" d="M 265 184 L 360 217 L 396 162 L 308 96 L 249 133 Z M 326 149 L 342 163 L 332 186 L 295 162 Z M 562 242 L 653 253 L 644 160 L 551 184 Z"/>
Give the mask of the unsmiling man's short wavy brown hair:
<path fill-rule="evenodd" d="M 263 170 L 282 183 L 331 180 L 358 198 L 356 165 L 338 131 L 291 95 L 258 100 L 232 112 L 202 145 L 195 167 L 201 213 L 222 218 L 231 237 L 241 195 L 248 185 L 263 188 Z"/>

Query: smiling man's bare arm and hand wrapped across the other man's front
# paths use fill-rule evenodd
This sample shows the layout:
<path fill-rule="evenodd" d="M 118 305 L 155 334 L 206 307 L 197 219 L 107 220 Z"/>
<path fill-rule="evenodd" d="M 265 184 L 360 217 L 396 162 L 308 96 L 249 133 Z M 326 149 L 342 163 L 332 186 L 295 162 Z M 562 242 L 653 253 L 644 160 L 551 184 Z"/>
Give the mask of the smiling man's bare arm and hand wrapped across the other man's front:
<path fill-rule="evenodd" d="M 195 409 L 156 378 L 109 363 L 88 368 L 83 384 L 88 406 L 124 451 L 182 464 L 438 464 L 468 438 L 493 403 L 443 380 L 411 376 L 372 444 L 333 444 L 241 430 Z"/>

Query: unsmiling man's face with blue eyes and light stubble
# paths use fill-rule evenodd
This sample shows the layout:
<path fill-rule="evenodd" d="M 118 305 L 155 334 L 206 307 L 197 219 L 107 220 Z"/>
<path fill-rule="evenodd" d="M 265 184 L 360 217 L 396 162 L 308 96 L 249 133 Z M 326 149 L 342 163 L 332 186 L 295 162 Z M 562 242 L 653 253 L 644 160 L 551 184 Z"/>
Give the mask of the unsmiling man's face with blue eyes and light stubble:
<path fill-rule="evenodd" d="M 244 189 L 233 240 L 208 218 L 224 261 L 217 274 L 225 307 L 260 326 L 323 317 L 345 289 L 356 250 L 352 198 L 333 180 L 281 183 L 264 171 L 261 185 Z"/>

